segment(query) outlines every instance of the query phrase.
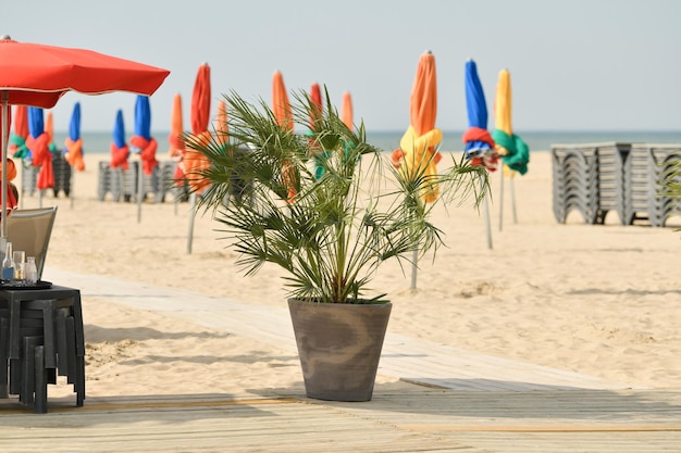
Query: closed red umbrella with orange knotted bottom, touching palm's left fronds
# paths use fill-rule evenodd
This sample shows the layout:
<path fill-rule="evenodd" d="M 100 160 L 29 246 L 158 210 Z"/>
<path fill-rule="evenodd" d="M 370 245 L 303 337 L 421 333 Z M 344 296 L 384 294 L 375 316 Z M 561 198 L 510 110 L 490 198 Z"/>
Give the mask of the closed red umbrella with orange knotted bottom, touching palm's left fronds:
<path fill-rule="evenodd" d="M 191 134 L 200 144 L 208 144 L 211 140 L 208 124 L 210 122 L 210 66 L 203 63 L 199 66 L 191 92 Z M 209 181 L 200 176 L 200 173 L 210 166 L 208 159 L 190 149 L 185 150 L 183 158 L 184 172 L 191 190 L 200 193 L 209 185 Z"/>

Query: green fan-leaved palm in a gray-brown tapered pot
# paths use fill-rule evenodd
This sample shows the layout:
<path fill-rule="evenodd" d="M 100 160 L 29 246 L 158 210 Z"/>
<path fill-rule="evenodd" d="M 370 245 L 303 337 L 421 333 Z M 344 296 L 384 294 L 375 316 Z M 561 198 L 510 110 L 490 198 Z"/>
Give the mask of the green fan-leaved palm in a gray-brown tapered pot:
<path fill-rule="evenodd" d="M 262 100 L 232 91 L 224 101 L 228 140 L 185 137 L 209 162 L 188 175 L 210 181 L 199 206 L 226 232 L 246 275 L 265 263 L 286 270 L 307 395 L 371 400 L 392 309 L 370 288 L 372 277 L 384 262 L 434 252 L 443 242 L 431 210 L 441 200 L 479 201 L 485 171 L 461 160 L 429 175 L 430 152 L 396 169 L 367 142 L 363 124 L 349 128 L 329 101 L 320 109 L 304 91 L 294 95 L 292 116 L 306 134 L 280 126 Z M 442 196 L 424 203 L 435 185 Z"/>

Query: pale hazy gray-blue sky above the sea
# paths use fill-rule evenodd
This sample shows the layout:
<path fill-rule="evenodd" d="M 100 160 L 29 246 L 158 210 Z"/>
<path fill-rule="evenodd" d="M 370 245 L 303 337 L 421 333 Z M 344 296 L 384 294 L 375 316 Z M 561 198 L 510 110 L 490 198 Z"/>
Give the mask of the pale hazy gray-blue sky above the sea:
<path fill-rule="evenodd" d="M 175 93 L 185 129 L 198 67 L 211 66 L 212 114 L 223 93 L 271 99 L 275 71 L 289 92 L 326 86 L 352 98 L 368 130 L 404 130 L 419 56 L 435 55 L 437 121 L 468 127 L 465 64 L 473 59 L 494 128 L 497 77 L 510 72 L 513 130 L 681 128 L 678 0 L 0 0 L 0 35 L 84 48 L 171 72 L 150 99 L 152 133 L 170 130 Z M 67 130 L 113 128 L 135 95 L 65 95 L 52 109 Z"/>

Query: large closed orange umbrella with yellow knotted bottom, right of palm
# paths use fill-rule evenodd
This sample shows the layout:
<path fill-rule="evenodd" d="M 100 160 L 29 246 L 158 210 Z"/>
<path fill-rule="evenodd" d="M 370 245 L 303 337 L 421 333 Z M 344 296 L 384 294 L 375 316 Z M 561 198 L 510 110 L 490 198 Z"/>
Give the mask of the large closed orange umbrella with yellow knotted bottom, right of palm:
<path fill-rule="evenodd" d="M 435 177 L 441 155 L 435 147 L 442 142 L 442 130 L 435 128 L 437 115 L 437 78 L 435 56 L 430 51 L 419 59 L 417 75 L 409 103 L 409 128 L 403 136 L 400 148 L 393 152 L 393 164 L 400 167 L 406 177 L 423 174 Z M 437 199 L 439 188 L 431 184 L 421 192 L 426 203 Z"/>

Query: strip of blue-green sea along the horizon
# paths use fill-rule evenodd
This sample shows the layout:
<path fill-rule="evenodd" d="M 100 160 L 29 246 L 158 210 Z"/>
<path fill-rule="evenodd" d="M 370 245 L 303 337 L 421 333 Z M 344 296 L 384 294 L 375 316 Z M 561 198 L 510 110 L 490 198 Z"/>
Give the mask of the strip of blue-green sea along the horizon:
<path fill-rule="evenodd" d="M 368 130 L 367 141 L 375 147 L 392 152 L 398 148 L 404 130 Z M 443 130 L 442 151 L 462 151 L 463 143 L 461 136 L 463 130 Z M 580 144 L 598 142 L 623 142 L 623 143 L 681 143 L 681 128 L 678 130 L 658 131 L 636 131 L 636 130 L 592 130 L 592 131 L 569 131 L 569 130 L 528 130 L 516 131 L 528 146 L 530 152 L 548 152 L 553 144 Z M 63 147 L 67 133 L 54 133 L 54 143 Z M 152 131 L 152 136 L 159 142 L 157 155 L 161 156 L 169 148 L 169 131 Z M 82 131 L 84 153 L 109 154 L 111 131 Z M 128 137 L 129 139 L 129 137 Z"/>

